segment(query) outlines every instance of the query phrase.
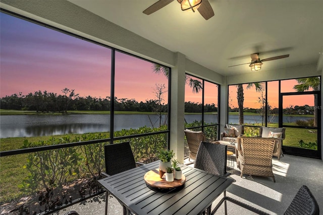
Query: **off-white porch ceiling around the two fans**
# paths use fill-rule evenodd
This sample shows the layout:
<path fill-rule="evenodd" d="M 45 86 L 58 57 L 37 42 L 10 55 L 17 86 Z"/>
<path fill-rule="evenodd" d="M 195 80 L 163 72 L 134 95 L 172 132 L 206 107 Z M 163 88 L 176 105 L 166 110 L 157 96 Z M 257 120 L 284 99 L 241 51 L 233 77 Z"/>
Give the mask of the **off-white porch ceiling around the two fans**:
<path fill-rule="evenodd" d="M 157 0 L 69 0 L 222 75 L 249 73 L 250 54 L 265 59 L 261 70 L 317 63 L 323 50 L 323 0 L 208 0 L 214 16 L 182 12 L 174 0 L 151 15 Z"/>

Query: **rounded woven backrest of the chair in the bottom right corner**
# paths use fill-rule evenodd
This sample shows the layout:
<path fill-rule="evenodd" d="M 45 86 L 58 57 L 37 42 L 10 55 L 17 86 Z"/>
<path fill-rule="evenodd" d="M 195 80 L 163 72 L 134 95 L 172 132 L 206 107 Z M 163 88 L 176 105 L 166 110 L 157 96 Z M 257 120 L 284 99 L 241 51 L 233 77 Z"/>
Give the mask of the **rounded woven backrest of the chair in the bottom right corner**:
<path fill-rule="evenodd" d="M 319 214 L 317 201 L 307 186 L 298 190 L 284 214 Z"/>

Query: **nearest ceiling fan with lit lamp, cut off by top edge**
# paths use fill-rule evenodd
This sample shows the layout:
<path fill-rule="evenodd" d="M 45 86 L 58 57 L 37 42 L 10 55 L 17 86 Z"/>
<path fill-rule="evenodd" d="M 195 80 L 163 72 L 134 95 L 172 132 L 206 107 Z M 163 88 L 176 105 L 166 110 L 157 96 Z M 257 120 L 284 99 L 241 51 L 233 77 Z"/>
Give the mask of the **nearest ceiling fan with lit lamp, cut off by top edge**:
<path fill-rule="evenodd" d="M 164 8 L 174 0 L 159 0 L 155 4 L 148 7 L 142 13 L 150 15 L 161 8 Z M 178 3 L 181 4 L 182 11 L 192 10 L 195 12 L 196 10 L 202 15 L 205 20 L 208 20 L 212 16 L 214 16 L 214 12 L 210 3 L 207 0 L 177 0 Z"/>

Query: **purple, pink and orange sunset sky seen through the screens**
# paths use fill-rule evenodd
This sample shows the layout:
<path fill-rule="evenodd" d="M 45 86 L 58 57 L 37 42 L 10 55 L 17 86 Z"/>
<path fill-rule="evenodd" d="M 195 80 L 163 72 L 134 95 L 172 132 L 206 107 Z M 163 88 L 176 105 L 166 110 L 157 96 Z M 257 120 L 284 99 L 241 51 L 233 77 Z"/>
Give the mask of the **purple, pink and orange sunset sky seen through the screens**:
<path fill-rule="evenodd" d="M 41 90 L 63 94 L 62 89 L 74 89 L 79 96 L 105 98 L 110 96 L 111 49 L 34 23 L 0 13 L 1 79 L 0 97 L 22 92 L 22 95 Z M 168 86 L 163 74 L 152 71 L 153 63 L 116 52 L 115 96 L 138 102 L 155 99 L 155 84 Z M 276 84 L 276 85 L 275 85 Z M 291 92 L 295 80 L 284 81 L 282 92 Z M 278 82 L 268 82 L 268 100 L 278 107 Z M 205 86 L 205 103 L 217 102 L 215 85 Z M 237 106 L 236 88 L 229 93 L 231 106 Z M 259 108 L 254 88 L 245 89 L 244 106 Z M 201 94 L 186 87 L 185 101 L 201 103 Z M 167 93 L 165 93 L 167 103 Z M 286 104 L 285 104 L 286 103 Z M 288 104 L 288 105 L 287 105 Z M 313 105 L 312 96 L 284 98 L 284 107 Z"/>

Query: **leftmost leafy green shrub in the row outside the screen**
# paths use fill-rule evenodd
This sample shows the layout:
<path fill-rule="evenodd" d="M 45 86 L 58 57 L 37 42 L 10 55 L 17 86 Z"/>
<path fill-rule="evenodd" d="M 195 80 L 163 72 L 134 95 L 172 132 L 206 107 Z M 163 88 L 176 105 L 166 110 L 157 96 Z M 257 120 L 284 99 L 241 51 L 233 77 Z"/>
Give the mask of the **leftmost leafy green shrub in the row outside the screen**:
<path fill-rule="evenodd" d="M 23 147 L 38 147 L 69 142 L 71 142 L 69 137 L 51 137 L 47 141 L 34 143 L 25 140 Z M 45 189 L 47 192 L 51 192 L 55 187 L 61 189 L 68 179 L 76 179 L 75 176 L 79 174 L 79 162 L 80 154 L 77 152 L 76 147 L 30 153 L 28 154 L 27 164 L 24 166 L 29 171 L 29 174 L 18 187 L 22 191 Z"/>

